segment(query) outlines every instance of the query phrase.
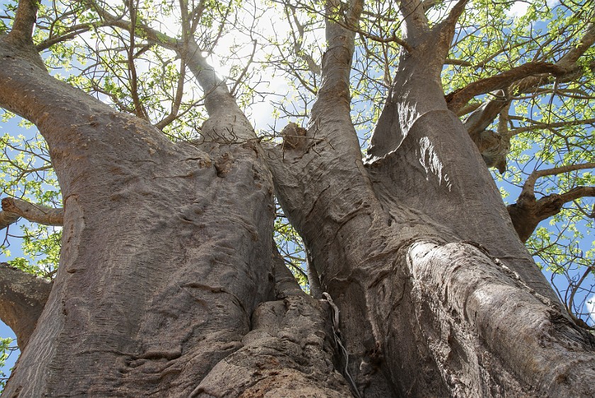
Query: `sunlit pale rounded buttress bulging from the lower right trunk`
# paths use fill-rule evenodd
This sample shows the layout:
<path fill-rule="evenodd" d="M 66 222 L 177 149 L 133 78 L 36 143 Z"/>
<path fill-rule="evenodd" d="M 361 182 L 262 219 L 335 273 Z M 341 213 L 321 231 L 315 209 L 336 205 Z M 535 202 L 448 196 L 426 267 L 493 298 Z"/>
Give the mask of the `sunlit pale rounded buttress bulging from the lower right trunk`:
<path fill-rule="evenodd" d="M 412 244 L 407 263 L 417 319 L 453 396 L 595 394 L 585 382 L 595 377 L 593 336 L 502 263 L 429 241 Z"/>

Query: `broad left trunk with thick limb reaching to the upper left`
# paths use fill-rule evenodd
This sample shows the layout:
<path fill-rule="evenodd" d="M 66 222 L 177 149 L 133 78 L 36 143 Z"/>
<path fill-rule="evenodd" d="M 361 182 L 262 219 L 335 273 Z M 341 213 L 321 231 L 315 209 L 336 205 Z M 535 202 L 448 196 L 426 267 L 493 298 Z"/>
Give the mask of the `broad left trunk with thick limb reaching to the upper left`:
<path fill-rule="evenodd" d="M 237 142 L 174 144 L 2 44 L 0 103 L 38 126 L 64 197 L 60 268 L 4 396 L 348 395 L 328 306 L 274 265 L 251 127 L 214 112 L 203 130 Z"/>

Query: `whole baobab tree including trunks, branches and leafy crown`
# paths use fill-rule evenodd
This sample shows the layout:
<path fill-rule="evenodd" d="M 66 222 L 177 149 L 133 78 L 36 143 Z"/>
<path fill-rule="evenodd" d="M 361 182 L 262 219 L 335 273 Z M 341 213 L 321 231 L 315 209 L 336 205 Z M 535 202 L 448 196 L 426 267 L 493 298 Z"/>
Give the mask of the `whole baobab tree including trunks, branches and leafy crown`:
<path fill-rule="evenodd" d="M 532 172 L 508 208 L 488 169 L 506 171 L 519 129 L 592 123 L 587 107 L 555 110 L 590 99 L 593 8 L 560 5 L 557 30 L 519 39 L 527 55 L 494 52 L 485 28 L 477 60 L 472 19 L 502 5 L 278 6 L 288 41 L 270 40 L 266 60 L 305 99 L 279 142 L 242 109 L 271 24 L 259 3 L 8 10 L 0 106 L 38 128 L 63 208 L 3 200 L 3 227 L 62 225 L 52 282 L 2 268 L 1 315 L 22 350 L 4 394 L 593 396 L 595 339 L 523 244 L 566 203 L 586 208 L 589 176 L 539 199 L 536 186 L 592 168 L 591 154 Z M 252 43 L 228 82 L 209 62 L 225 30 Z M 324 35 L 322 57 L 309 35 Z M 83 73 L 47 72 L 64 59 Z M 547 120 L 514 123 L 513 106 L 544 96 Z M 361 120 L 375 123 L 365 156 Z M 273 242 L 275 198 L 304 241 L 311 295 Z"/>

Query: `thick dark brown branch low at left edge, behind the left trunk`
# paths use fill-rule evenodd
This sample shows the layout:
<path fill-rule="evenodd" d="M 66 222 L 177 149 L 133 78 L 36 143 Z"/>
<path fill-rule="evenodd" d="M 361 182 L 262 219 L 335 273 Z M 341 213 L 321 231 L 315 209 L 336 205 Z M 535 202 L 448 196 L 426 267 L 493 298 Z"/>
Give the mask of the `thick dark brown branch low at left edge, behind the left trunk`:
<path fill-rule="evenodd" d="M 0 318 L 16 334 L 23 351 L 52 290 L 48 280 L 0 263 Z"/>

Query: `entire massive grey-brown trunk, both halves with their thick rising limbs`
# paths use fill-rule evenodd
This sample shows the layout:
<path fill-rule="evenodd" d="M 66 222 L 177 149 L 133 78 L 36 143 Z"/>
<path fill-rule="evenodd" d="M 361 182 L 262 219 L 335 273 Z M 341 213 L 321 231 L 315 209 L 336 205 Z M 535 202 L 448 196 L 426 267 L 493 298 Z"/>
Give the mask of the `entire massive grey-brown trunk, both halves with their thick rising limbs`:
<path fill-rule="evenodd" d="M 353 33 L 330 19 L 305 135 L 264 148 L 192 43 L 210 119 L 205 140 L 174 144 L 0 38 L 0 105 L 38 126 L 64 198 L 60 268 L 4 395 L 594 396 L 594 339 L 446 106 L 452 27 L 429 30 L 403 3 L 413 47 L 365 162 Z M 359 12 L 352 1 L 346 25 Z M 273 187 L 324 300 L 276 254 Z"/>

